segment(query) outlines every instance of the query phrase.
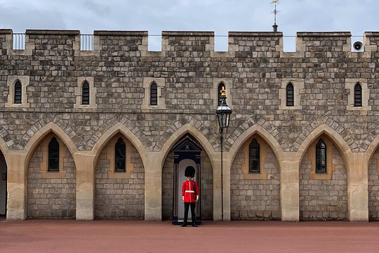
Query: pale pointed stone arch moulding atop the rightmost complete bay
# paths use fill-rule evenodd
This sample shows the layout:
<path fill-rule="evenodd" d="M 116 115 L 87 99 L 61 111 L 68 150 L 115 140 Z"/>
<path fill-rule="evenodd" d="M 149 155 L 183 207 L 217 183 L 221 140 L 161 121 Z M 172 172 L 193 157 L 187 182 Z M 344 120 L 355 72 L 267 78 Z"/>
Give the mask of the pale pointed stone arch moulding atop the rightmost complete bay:
<path fill-rule="evenodd" d="M 321 124 L 320 126 L 318 126 L 304 139 L 304 141 L 302 141 L 297 152 L 298 161 L 301 162 L 302 157 L 304 157 L 307 149 L 314 142 L 314 140 L 316 140 L 322 134 L 328 136 L 328 138 L 330 138 L 333 141 L 333 143 L 337 146 L 338 150 L 340 150 L 340 153 L 347 167 L 347 171 L 349 171 L 349 162 L 347 161 L 349 159 L 349 156 L 352 156 L 352 150 L 350 149 L 350 146 L 347 145 L 343 137 L 340 136 L 340 134 L 338 134 L 337 131 L 332 129 L 331 126 L 328 126 L 327 124 Z"/>

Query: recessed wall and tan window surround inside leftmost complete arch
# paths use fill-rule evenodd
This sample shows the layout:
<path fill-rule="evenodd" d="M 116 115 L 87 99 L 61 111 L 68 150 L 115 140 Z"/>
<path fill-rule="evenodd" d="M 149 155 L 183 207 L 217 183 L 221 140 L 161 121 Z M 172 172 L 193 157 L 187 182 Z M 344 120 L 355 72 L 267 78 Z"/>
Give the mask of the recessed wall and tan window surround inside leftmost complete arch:
<path fill-rule="evenodd" d="M 50 131 L 34 143 L 27 164 L 27 218 L 74 219 L 76 216 L 77 168 L 62 138 Z M 58 171 L 48 169 L 48 146 L 59 144 Z"/>

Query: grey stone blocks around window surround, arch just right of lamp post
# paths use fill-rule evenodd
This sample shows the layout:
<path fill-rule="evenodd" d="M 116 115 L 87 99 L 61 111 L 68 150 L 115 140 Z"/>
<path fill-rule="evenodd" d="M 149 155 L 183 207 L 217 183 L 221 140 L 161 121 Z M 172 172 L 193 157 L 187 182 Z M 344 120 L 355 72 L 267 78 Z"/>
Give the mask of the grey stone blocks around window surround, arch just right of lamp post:
<path fill-rule="evenodd" d="M 237 220 L 280 219 L 279 164 L 267 148 L 265 171 L 267 179 L 244 179 L 242 150 L 234 158 L 230 172 L 230 218 Z M 247 157 L 248 160 L 248 157 Z"/>

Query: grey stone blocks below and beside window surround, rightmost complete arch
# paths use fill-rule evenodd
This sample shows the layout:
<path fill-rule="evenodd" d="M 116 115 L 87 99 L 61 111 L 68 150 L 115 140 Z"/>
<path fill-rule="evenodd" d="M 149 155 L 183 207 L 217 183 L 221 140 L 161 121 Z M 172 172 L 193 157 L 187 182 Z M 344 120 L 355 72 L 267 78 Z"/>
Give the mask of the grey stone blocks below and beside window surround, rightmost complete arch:
<path fill-rule="evenodd" d="M 300 164 L 300 219 L 347 219 L 347 171 L 338 148 L 333 145 L 331 180 L 310 180 L 311 161 Z"/>

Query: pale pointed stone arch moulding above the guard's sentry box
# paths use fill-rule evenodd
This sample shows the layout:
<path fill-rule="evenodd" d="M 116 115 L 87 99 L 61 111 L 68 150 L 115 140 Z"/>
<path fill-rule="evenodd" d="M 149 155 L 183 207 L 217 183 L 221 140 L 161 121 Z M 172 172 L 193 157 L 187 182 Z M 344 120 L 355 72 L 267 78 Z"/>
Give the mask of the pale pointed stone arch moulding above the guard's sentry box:
<path fill-rule="evenodd" d="M 180 129 L 175 131 L 162 146 L 161 167 L 164 166 L 164 161 L 166 160 L 168 153 L 170 153 L 171 148 L 173 148 L 173 145 L 175 145 L 175 143 L 178 140 L 180 140 L 180 138 L 182 138 L 182 136 L 184 136 L 185 134 L 191 134 L 192 136 L 194 136 L 194 138 L 197 139 L 197 141 L 199 141 L 202 148 L 204 148 L 206 155 L 208 155 L 208 157 L 210 158 L 209 160 L 211 160 L 212 168 L 214 168 L 213 159 L 211 157 L 215 157 L 215 149 L 213 148 L 211 143 L 208 141 L 206 136 L 204 136 L 204 134 L 202 134 L 201 131 L 199 131 L 199 129 L 197 129 L 196 127 L 192 126 L 192 124 L 189 124 L 189 123 L 181 126 Z"/>

